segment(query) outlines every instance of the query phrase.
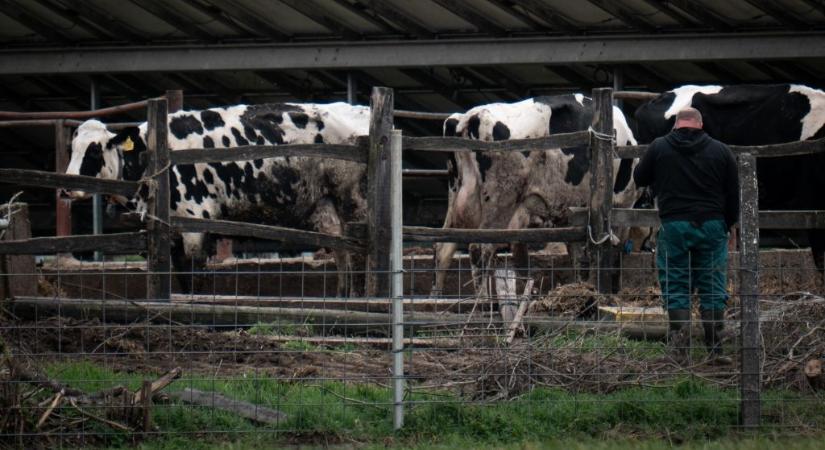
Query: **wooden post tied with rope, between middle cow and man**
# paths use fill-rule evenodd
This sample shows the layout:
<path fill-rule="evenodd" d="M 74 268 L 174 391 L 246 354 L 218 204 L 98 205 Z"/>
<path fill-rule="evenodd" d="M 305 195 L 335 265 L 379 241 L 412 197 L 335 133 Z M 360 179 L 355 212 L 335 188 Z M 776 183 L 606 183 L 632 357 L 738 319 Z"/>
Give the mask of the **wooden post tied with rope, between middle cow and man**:
<path fill-rule="evenodd" d="M 613 89 L 593 89 L 593 134 L 590 137 L 590 220 L 587 241 L 590 281 L 602 293 L 611 293 L 613 208 Z M 594 242 L 595 240 L 595 242 Z"/>

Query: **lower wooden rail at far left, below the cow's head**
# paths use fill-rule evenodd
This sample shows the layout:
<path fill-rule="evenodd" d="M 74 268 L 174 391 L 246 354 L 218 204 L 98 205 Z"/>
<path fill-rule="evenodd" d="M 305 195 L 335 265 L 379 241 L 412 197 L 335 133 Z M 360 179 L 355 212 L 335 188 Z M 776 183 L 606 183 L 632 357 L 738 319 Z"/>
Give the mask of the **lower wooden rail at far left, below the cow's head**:
<path fill-rule="evenodd" d="M 145 251 L 146 233 L 38 237 L 0 242 L 0 254 L 6 255 L 50 255 L 94 250 L 108 254 Z"/>

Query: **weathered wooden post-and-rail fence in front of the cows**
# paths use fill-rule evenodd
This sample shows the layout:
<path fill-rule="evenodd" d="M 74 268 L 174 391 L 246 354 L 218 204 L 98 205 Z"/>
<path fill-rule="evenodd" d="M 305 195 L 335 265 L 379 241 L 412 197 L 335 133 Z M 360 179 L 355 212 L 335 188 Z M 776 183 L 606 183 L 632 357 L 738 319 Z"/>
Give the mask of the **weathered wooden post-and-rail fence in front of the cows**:
<path fill-rule="evenodd" d="M 649 227 L 658 224 L 653 210 L 613 208 L 613 160 L 615 157 L 641 156 L 646 147 L 615 146 L 613 136 L 613 91 L 593 90 L 593 120 L 590 131 L 558 134 L 539 139 L 482 142 L 455 137 L 405 137 L 405 150 L 435 152 L 511 152 L 546 148 L 589 145 L 591 152 L 591 193 L 589 207 L 571 211 L 571 226 L 566 228 L 535 228 L 526 230 L 466 230 L 426 227 L 403 227 L 403 239 L 412 242 L 588 242 L 591 279 L 600 291 L 609 292 L 610 267 L 614 250 L 609 244 L 598 244 L 611 226 Z M 101 236 L 63 236 L 35 238 L 0 243 L 0 254 L 37 254 L 99 250 L 105 252 L 135 252 L 148 254 L 149 298 L 169 300 L 170 233 L 207 232 L 222 235 L 248 236 L 261 239 L 289 240 L 308 246 L 323 246 L 359 251 L 368 255 L 368 290 L 370 296 L 389 294 L 391 258 L 390 241 L 392 212 L 401 207 L 390 195 L 393 175 L 390 170 L 390 135 L 393 123 L 393 92 L 388 88 L 373 88 L 371 96 L 369 136 L 353 145 L 294 144 L 278 146 L 244 146 L 229 149 L 187 149 L 170 152 L 167 145 L 167 100 L 146 102 L 149 155 L 148 183 L 153 192 L 148 196 L 146 231 Z M 33 116 L 31 120 L 42 120 Z M 27 119 L 29 120 L 29 119 Z M 65 122 L 58 126 L 64 127 Z M 64 142 L 65 144 L 65 142 Z M 742 179 L 742 217 L 740 220 L 742 280 L 742 423 L 759 423 L 760 344 L 758 229 L 825 228 L 825 211 L 759 211 L 757 207 L 756 157 L 780 157 L 825 151 L 825 141 L 792 142 L 779 145 L 732 147 L 738 155 Z M 347 235 L 336 236 L 305 230 L 256 225 L 223 220 L 171 217 L 169 212 L 168 168 L 174 164 L 196 162 L 237 161 L 239 159 L 276 156 L 312 156 L 341 159 L 367 164 L 367 199 L 369 215 L 366 224 L 352 224 Z M 55 174 L 39 171 L 0 169 L 0 181 L 18 185 L 49 188 L 80 189 L 90 193 L 132 195 L 138 182 L 102 180 L 98 178 Z M 589 220 L 588 220 L 589 218 Z M 594 239 L 595 237 L 595 239 Z"/>

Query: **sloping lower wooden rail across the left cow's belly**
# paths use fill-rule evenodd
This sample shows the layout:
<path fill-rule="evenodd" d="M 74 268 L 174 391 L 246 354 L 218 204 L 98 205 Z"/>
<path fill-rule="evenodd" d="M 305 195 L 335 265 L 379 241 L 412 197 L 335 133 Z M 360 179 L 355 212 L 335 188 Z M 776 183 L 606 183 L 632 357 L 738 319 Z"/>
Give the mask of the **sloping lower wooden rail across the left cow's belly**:
<path fill-rule="evenodd" d="M 180 232 L 214 233 L 225 236 L 252 237 L 274 241 L 288 241 L 290 245 L 341 248 L 363 251 L 362 240 L 347 236 L 335 236 L 315 231 L 294 228 L 233 222 L 229 220 L 196 219 L 192 217 L 172 217 L 171 223 Z"/>

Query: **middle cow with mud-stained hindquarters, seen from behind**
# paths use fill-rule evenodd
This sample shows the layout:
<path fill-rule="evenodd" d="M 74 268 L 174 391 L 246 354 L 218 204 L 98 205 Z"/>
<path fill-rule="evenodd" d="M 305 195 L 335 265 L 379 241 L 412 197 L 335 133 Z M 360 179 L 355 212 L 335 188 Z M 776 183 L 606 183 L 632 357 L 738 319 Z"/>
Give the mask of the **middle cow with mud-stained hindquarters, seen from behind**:
<path fill-rule="evenodd" d="M 483 141 L 541 138 L 587 130 L 592 101 L 582 94 L 544 96 L 517 103 L 478 106 L 453 114 L 444 122 L 445 136 Z M 618 145 L 636 140 L 618 108 L 613 108 Z M 628 207 L 638 197 L 631 179 L 634 161 L 614 165 L 614 202 Z M 449 192 L 444 228 L 521 229 L 568 224 L 569 208 L 586 206 L 590 197 L 590 153 L 587 146 L 531 152 L 456 152 L 448 161 Z M 453 243 L 438 244 L 432 294 L 444 288 Z M 526 267 L 526 246 L 514 244 L 517 267 Z M 479 267 L 495 253 L 490 245 L 470 246 L 474 280 Z"/>

